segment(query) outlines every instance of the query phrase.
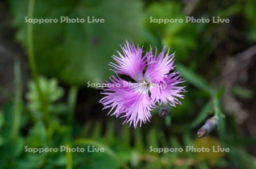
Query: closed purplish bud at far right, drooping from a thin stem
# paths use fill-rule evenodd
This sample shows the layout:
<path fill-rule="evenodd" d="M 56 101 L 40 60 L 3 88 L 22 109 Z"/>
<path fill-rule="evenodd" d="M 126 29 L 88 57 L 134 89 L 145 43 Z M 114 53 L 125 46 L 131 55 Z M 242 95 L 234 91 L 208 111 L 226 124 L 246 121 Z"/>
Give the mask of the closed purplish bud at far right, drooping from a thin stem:
<path fill-rule="evenodd" d="M 211 117 L 205 124 L 197 131 L 198 137 L 205 137 L 207 134 L 212 132 L 214 128 L 218 125 L 218 117 Z"/>

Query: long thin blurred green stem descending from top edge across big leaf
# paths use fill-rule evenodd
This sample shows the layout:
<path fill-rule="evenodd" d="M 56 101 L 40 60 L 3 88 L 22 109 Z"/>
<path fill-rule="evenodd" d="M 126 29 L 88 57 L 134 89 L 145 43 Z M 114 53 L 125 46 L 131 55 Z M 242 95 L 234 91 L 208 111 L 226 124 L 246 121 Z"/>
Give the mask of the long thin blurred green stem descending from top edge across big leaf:
<path fill-rule="evenodd" d="M 34 5 L 35 5 L 34 0 L 28 1 L 28 18 L 33 18 Z M 28 61 L 29 61 L 29 65 L 30 65 L 30 70 L 31 70 L 34 82 L 36 84 L 36 90 L 38 91 L 39 100 L 42 105 L 41 109 L 42 109 L 42 112 L 44 113 L 44 119 L 46 120 L 47 124 L 49 124 L 50 116 L 47 111 L 46 100 L 44 98 L 42 89 L 41 89 L 39 81 L 38 81 L 38 71 L 36 70 L 35 56 L 34 56 L 34 43 L 33 43 L 33 24 L 32 23 L 27 24 L 27 48 L 28 48 Z"/>

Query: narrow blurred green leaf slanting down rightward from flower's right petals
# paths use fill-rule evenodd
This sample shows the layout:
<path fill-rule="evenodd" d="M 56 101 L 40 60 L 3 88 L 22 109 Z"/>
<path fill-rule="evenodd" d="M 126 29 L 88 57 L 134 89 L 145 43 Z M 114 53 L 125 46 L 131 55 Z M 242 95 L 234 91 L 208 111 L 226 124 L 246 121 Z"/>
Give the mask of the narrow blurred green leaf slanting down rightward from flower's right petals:
<path fill-rule="evenodd" d="M 207 84 L 207 82 L 205 82 L 205 80 L 203 78 L 199 77 L 199 75 L 196 75 L 195 73 L 193 73 L 187 67 L 185 67 L 181 64 L 177 64 L 177 70 L 180 71 L 180 73 L 183 75 L 183 78 L 185 79 L 185 81 L 193 84 L 200 90 L 206 91 L 209 94 L 212 93 L 213 90 Z"/>

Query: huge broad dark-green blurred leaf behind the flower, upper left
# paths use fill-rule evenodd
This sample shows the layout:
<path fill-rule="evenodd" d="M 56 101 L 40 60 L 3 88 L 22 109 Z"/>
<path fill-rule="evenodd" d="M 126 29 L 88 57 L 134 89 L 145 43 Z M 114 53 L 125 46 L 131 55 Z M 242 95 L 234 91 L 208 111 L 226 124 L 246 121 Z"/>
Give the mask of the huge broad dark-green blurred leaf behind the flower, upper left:
<path fill-rule="evenodd" d="M 10 1 L 16 39 L 26 47 L 28 1 Z M 104 11 L 104 12 L 103 12 Z M 131 12 L 132 11 L 132 12 Z M 85 19 L 60 23 L 60 17 Z M 105 23 L 87 23 L 94 18 Z M 142 41 L 143 13 L 139 1 L 35 1 L 34 18 L 56 18 L 57 23 L 34 24 L 34 48 L 39 72 L 72 84 L 108 79 L 110 57 L 123 41 Z"/>

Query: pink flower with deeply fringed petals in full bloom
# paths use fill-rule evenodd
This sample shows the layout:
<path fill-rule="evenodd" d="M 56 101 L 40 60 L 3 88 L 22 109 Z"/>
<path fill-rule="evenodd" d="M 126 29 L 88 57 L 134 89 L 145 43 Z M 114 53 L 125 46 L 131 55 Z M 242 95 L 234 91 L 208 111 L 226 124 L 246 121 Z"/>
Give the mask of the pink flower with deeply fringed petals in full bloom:
<path fill-rule="evenodd" d="M 150 111 L 158 105 L 181 104 L 177 98 L 183 98 L 180 92 L 184 87 L 176 85 L 184 81 L 174 71 L 174 53 L 169 55 L 164 47 L 159 55 L 150 49 L 143 56 L 142 48 L 128 41 L 121 48 L 122 53 L 112 56 L 116 63 L 110 62 L 117 77 L 110 78 L 100 100 L 104 109 L 110 108 L 108 114 L 125 117 L 124 123 L 133 123 L 136 128 L 138 122 L 141 126 L 150 121 Z M 134 82 L 127 82 L 118 74 L 127 75 Z"/>

